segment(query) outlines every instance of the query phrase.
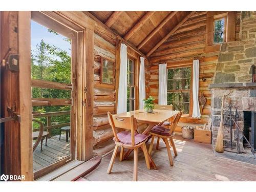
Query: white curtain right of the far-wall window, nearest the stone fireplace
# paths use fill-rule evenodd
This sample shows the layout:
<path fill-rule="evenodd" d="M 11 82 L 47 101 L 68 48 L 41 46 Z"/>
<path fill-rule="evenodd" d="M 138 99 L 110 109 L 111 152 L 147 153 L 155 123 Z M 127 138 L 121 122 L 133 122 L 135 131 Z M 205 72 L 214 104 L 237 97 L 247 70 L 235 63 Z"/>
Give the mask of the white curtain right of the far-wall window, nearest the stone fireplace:
<path fill-rule="evenodd" d="M 198 90 L 199 90 L 199 60 L 193 61 L 193 113 L 192 117 L 201 118 L 199 101 L 198 101 Z"/>

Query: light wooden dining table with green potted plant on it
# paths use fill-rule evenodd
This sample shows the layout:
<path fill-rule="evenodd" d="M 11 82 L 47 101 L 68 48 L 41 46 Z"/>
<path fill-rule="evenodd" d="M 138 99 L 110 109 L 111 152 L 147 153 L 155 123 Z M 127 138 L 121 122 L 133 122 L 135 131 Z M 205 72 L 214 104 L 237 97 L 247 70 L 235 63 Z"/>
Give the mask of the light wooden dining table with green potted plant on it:
<path fill-rule="evenodd" d="M 144 110 L 135 110 L 126 113 L 120 113 L 117 115 L 122 117 L 131 117 L 132 115 L 134 115 L 134 117 L 137 119 L 137 122 L 148 124 L 146 129 L 142 132 L 142 134 L 148 135 L 155 125 L 162 125 L 164 121 L 172 119 L 178 113 L 179 111 L 170 110 L 153 110 L 152 113 L 146 113 Z M 128 150 L 127 152 L 125 152 L 123 155 L 123 159 L 126 159 L 132 153 L 132 151 L 133 150 Z M 151 168 L 157 169 L 157 166 L 154 163 L 150 154 L 148 154 L 148 157 L 151 161 Z"/>

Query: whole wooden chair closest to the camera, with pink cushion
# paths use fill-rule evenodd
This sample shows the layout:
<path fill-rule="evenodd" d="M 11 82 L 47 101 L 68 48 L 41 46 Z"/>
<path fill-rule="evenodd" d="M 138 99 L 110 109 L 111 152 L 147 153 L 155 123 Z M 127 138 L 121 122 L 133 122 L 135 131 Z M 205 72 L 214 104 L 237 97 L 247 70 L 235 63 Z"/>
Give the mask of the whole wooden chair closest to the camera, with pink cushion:
<path fill-rule="evenodd" d="M 110 112 L 108 112 L 108 117 L 110 121 L 110 125 L 112 127 L 112 131 L 114 133 L 114 140 L 115 140 L 115 149 L 113 152 L 113 155 L 110 160 L 110 164 L 108 167 L 107 173 L 110 174 L 113 164 L 115 162 L 115 158 L 117 155 L 118 147 L 120 147 L 120 161 L 122 161 L 123 157 L 123 150 L 124 148 L 128 150 L 134 150 L 134 170 L 133 170 L 133 180 L 137 181 L 138 180 L 138 175 L 137 175 L 137 169 L 138 169 L 138 148 L 141 148 L 145 160 L 146 160 L 146 166 L 148 169 L 150 169 L 150 159 L 148 157 L 148 152 L 146 149 L 146 140 L 149 137 L 149 135 L 144 135 L 144 134 L 138 134 L 136 133 L 136 130 L 138 129 L 137 126 L 137 120 L 134 118 L 132 115 L 131 117 L 121 117 L 117 115 L 112 115 Z M 116 129 L 125 129 L 129 130 L 128 131 L 122 131 L 117 133 Z M 130 132 L 131 130 L 131 132 Z"/>

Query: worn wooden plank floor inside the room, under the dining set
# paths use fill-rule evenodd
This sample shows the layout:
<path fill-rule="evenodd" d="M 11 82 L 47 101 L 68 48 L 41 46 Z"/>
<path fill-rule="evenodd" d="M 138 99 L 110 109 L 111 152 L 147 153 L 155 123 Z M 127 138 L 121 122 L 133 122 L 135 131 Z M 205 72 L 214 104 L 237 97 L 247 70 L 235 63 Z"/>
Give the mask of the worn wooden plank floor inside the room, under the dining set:
<path fill-rule="evenodd" d="M 169 165 L 164 143 L 160 142 L 159 151 L 156 151 L 154 145 L 152 157 L 157 170 L 146 168 L 143 153 L 139 150 L 138 181 L 256 181 L 256 165 L 216 157 L 211 145 L 184 140 L 179 135 L 176 136 L 175 144 L 178 156 L 174 158 L 173 167 Z M 174 155 L 173 151 L 172 154 Z M 101 164 L 84 179 L 132 181 L 133 155 L 122 162 L 119 161 L 118 155 L 111 174 L 106 174 L 112 156 L 109 154 L 102 158 Z"/>

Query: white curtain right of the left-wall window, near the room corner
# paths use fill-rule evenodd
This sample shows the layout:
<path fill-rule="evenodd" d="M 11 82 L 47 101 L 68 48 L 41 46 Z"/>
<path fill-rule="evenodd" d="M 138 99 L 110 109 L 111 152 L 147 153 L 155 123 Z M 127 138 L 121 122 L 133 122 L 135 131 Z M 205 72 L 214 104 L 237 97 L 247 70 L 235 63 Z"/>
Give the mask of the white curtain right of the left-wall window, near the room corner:
<path fill-rule="evenodd" d="M 140 110 L 144 108 L 143 99 L 146 98 L 144 60 L 145 60 L 144 57 L 140 57 L 140 77 L 139 77 Z"/>

